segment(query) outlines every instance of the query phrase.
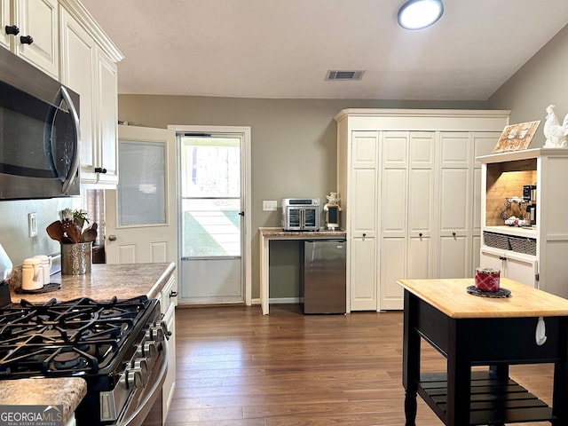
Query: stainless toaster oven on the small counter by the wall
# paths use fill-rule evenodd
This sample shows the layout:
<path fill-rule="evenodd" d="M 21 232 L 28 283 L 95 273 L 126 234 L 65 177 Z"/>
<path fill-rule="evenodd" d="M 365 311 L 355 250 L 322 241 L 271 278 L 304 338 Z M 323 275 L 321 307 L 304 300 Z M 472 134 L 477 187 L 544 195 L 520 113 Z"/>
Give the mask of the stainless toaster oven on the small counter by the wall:
<path fill-rule="evenodd" d="M 282 199 L 284 231 L 319 231 L 320 217 L 319 198 Z"/>

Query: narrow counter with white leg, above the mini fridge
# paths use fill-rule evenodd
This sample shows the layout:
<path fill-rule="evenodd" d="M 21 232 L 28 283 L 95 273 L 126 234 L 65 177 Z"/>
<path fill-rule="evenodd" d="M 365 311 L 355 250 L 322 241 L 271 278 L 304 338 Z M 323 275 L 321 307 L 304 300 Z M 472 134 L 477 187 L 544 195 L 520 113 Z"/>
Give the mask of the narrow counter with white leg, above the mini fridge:
<path fill-rule="evenodd" d="M 260 234 L 260 306 L 263 315 L 268 315 L 270 280 L 268 274 L 271 240 L 330 240 L 345 238 L 345 231 L 282 231 L 282 228 L 258 228 Z"/>

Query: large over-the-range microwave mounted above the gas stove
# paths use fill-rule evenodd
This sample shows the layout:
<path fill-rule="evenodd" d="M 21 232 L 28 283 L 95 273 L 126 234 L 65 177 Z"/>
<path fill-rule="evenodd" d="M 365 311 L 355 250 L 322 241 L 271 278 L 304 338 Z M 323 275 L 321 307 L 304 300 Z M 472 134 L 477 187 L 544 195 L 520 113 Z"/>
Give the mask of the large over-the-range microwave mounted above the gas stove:
<path fill-rule="evenodd" d="M 0 200 L 78 195 L 79 95 L 0 48 Z"/>

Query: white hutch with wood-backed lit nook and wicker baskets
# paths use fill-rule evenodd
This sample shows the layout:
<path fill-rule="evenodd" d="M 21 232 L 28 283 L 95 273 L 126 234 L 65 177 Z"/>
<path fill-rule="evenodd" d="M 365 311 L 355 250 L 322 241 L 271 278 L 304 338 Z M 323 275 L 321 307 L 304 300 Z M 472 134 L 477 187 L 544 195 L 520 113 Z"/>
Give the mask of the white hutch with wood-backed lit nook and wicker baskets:
<path fill-rule="evenodd" d="M 568 149 L 525 149 L 477 161 L 482 163 L 481 266 L 568 297 L 568 222 L 563 218 L 568 209 Z M 525 185 L 536 185 L 535 224 L 505 225 L 505 202 L 522 198 Z"/>

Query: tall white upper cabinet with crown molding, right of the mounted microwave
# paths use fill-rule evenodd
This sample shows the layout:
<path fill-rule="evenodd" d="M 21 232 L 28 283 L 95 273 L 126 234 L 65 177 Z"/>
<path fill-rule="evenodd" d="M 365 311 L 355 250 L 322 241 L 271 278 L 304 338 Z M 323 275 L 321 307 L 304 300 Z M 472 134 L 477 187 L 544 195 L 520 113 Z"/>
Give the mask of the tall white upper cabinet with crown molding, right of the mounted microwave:
<path fill-rule="evenodd" d="M 81 103 L 81 184 L 112 188 L 118 182 L 116 61 L 122 54 L 82 6 L 60 3 L 61 81 Z"/>

